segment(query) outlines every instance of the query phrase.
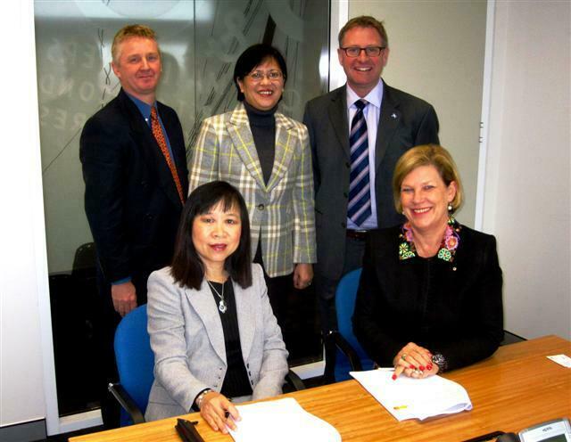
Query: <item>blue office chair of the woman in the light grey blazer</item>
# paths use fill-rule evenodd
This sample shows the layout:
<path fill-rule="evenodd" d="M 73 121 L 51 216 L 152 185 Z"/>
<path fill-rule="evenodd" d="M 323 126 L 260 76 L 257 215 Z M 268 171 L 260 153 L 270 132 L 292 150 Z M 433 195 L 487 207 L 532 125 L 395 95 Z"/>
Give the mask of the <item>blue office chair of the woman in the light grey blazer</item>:
<path fill-rule="evenodd" d="M 115 360 L 120 382 L 109 391 L 123 407 L 120 425 L 145 422 L 146 405 L 154 381 L 154 354 L 146 331 L 146 304 L 125 315 L 115 331 Z M 291 370 L 285 376 L 290 390 L 305 389 L 302 379 Z"/>

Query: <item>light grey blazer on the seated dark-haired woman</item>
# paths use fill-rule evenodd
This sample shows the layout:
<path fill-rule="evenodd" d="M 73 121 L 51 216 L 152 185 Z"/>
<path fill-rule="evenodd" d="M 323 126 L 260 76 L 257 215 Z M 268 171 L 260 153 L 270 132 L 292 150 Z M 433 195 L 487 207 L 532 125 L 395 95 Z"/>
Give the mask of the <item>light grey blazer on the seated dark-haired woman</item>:
<path fill-rule="evenodd" d="M 252 399 L 282 393 L 287 351 L 269 305 L 261 266 L 252 264 L 252 286 L 234 283 L 236 313 Z M 219 391 L 228 368 L 222 323 L 208 283 L 199 291 L 180 287 L 170 267 L 148 282 L 148 331 L 154 352 L 154 382 L 146 421 L 188 413 L 206 388 Z"/>

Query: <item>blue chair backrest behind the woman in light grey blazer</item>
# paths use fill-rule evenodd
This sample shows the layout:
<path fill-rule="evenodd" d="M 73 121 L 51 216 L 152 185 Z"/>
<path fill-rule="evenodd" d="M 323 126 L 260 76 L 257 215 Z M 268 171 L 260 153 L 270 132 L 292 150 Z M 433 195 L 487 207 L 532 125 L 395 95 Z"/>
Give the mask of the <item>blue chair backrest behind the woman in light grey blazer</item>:
<path fill-rule="evenodd" d="M 117 326 L 115 360 L 120 384 L 145 413 L 154 381 L 154 355 L 146 331 L 146 304 L 125 315 Z"/>

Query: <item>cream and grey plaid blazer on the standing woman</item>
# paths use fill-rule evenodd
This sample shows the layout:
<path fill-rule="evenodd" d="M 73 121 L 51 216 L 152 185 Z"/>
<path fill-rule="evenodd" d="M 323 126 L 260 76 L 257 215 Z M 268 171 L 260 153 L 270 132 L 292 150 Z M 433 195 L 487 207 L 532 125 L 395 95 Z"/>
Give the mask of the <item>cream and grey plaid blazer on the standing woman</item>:
<path fill-rule="evenodd" d="M 268 185 L 244 104 L 204 119 L 191 149 L 189 191 L 228 181 L 244 196 L 252 229 L 252 258 L 261 256 L 270 277 L 291 274 L 294 263 L 313 263 L 315 221 L 307 129 L 276 112 L 276 153 Z"/>

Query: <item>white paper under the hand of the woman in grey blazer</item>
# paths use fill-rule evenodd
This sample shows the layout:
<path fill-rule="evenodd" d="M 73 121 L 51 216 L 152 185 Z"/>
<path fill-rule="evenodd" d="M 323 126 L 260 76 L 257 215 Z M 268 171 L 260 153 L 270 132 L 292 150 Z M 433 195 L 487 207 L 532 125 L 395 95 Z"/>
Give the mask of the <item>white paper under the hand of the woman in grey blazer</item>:
<path fill-rule="evenodd" d="M 236 405 L 242 421 L 230 430 L 236 442 L 341 442 L 335 427 L 306 412 L 293 397 Z"/>

